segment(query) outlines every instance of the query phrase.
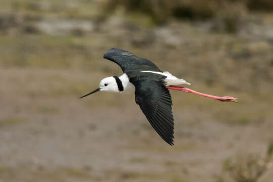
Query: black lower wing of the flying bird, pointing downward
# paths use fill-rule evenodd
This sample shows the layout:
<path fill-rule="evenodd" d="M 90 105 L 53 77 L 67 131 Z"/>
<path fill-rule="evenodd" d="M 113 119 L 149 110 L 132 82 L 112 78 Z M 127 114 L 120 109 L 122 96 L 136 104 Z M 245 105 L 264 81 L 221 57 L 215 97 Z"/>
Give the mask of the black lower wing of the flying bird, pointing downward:
<path fill-rule="evenodd" d="M 143 77 L 144 78 L 144 77 Z M 135 86 L 135 102 L 140 105 L 146 118 L 169 145 L 173 145 L 173 115 L 171 96 L 162 78 L 130 78 Z"/>

